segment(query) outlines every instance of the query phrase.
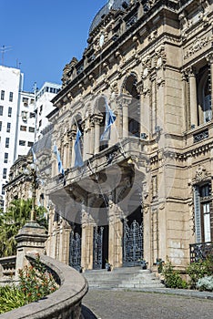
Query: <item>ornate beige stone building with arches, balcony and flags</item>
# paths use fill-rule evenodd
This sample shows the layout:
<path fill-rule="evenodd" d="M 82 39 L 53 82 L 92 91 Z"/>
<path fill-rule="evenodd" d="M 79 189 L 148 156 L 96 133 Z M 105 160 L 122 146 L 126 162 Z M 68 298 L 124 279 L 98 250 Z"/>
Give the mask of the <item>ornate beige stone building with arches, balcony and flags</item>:
<path fill-rule="evenodd" d="M 212 8 L 110 0 L 95 16 L 49 115 L 65 169 L 52 153 L 50 256 L 84 270 L 183 268 L 212 247 Z M 102 140 L 106 104 L 116 120 Z"/>

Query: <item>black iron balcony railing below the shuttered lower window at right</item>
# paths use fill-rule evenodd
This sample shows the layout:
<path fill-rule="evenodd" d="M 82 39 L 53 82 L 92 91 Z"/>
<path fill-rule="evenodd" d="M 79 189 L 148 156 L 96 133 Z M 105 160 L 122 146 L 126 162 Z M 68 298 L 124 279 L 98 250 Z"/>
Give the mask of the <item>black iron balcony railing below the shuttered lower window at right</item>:
<path fill-rule="evenodd" d="M 204 261 L 208 255 L 213 255 L 213 242 L 199 242 L 189 244 L 190 263 Z"/>

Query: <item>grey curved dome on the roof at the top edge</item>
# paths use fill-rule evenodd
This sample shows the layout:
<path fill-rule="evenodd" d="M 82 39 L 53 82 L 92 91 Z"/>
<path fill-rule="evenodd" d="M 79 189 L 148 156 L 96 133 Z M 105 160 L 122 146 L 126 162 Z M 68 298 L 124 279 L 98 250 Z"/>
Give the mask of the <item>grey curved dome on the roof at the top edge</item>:
<path fill-rule="evenodd" d="M 100 24 L 103 19 L 103 15 L 107 15 L 112 10 L 125 10 L 122 4 L 129 5 L 131 0 L 108 0 L 107 4 L 104 5 L 96 14 L 93 22 L 89 28 L 89 34 Z"/>

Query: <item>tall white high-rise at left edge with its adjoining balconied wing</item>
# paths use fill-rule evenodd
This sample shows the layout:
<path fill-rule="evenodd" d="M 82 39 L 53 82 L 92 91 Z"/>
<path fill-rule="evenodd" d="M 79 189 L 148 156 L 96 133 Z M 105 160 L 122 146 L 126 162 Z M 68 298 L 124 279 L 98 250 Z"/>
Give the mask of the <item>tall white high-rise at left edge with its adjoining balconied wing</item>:
<path fill-rule="evenodd" d="M 34 93 L 23 91 L 24 74 L 0 66 L 0 208 L 10 167 L 35 140 Z"/>

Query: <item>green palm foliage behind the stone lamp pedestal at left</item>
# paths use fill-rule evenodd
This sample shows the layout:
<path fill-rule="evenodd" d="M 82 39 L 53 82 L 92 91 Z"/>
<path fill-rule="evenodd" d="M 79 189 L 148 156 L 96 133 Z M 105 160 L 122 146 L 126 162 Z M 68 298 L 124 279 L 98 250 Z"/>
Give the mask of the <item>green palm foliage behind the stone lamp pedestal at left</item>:
<path fill-rule="evenodd" d="M 26 201 L 19 199 L 11 201 L 7 211 L 0 214 L 0 258 L 15 255 L 15 235 L 29 220 L 31 209 L 31 199 Z M 46 209 L 36 206 L 35 211 L 36 221 L 47 229 Z"/>

